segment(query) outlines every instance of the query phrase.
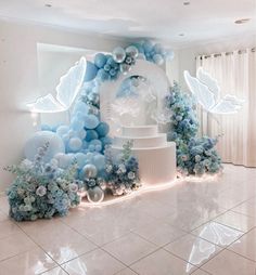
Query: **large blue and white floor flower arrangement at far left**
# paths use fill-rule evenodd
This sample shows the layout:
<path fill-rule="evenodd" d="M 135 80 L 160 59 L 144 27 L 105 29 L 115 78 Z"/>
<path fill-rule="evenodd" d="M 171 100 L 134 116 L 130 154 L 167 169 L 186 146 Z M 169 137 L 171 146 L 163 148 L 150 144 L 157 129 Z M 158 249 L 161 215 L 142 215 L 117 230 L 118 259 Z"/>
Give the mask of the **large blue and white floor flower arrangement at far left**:
<path fill-rule="evenodd" d="M 56 161 L 42 161 L 49 144 L 38 148 L 35 160 L 23 160 L 5 170 L 16 175 L 8 191 L 10 215 L 16 221 L 35 221 L 39 218 L 65 215 L 80 202 L 81 182 L 76 180 L 76 165 L 66 171 Z"/>

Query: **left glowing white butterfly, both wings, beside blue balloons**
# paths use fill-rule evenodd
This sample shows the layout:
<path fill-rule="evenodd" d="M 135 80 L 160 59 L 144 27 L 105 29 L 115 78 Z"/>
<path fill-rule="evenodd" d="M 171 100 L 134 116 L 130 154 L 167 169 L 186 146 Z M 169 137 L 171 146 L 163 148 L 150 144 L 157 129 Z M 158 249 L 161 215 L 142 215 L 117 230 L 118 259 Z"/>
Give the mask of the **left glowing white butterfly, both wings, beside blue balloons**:
<path fill-rule="evenodd" d="M 36 102 L 27 104 L 34 113 L 59 113 L 67 110 L 75 101 L 86 75 L 87 61 L 81 57 L 67 74 L 60 79 L 56 87 L 56 100 L 52 94 L 39 97 Z"/>

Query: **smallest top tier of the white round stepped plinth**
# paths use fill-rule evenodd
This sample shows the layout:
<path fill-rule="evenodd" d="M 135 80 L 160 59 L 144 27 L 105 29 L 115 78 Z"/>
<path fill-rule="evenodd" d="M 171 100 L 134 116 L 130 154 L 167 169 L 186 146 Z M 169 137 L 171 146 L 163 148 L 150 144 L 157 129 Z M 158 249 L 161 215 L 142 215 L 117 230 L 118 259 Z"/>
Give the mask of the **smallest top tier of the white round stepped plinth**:
<path fill-rule="evenodd" d="M 155 136 L 158 133 L 157 126 L 121 127 L 121 136 Z"/>

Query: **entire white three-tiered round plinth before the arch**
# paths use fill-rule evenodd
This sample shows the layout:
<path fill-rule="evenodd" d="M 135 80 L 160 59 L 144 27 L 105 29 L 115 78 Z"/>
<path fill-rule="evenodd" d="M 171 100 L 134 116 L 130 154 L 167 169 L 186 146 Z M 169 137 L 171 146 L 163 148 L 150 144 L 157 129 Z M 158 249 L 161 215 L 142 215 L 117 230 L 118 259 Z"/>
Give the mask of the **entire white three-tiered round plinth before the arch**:
<path fill-rule="evenodd" d="M 139 160 L 142 184 L 161 184 L 176 179 L 176 144 L 167 142 L 157 126 L 121 127 L 115 136 L 113 149 L 121 149 L 127 141 L 133 142 L 132 152 Z"/>

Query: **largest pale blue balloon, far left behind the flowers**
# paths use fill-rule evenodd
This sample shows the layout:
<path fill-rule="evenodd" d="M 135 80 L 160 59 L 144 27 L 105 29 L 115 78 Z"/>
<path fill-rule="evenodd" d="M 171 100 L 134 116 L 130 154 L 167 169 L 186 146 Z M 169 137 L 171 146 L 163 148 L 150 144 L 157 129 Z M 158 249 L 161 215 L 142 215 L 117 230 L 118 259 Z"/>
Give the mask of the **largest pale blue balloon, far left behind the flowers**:
<path fill-rule="evenodd" d="M 27 159 L 34 160 L 38 153 L 38 148 L 49 143 L 49 147 L 42 160 L 49 162 L 57 153 L 65 152 L 65 145 L 62 139 L 54 132 L 39 131 L 27 140 L 24 146 L 24 155 Z"/>

